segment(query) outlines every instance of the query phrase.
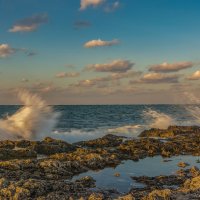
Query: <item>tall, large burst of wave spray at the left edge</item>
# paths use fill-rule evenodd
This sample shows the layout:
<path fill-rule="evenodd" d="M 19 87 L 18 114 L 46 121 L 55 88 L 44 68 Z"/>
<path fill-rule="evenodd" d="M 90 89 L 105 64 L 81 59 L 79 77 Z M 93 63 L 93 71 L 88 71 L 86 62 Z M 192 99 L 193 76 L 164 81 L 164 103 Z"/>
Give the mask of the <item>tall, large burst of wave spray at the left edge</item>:
<path fill-rule="evenodd" d="M 53 112 L 36 94 L 23 90 L 18 96 L 24 106 L 0 120 L 0 140 L 41 139 L 50 134 L 60 114 Z"/>

